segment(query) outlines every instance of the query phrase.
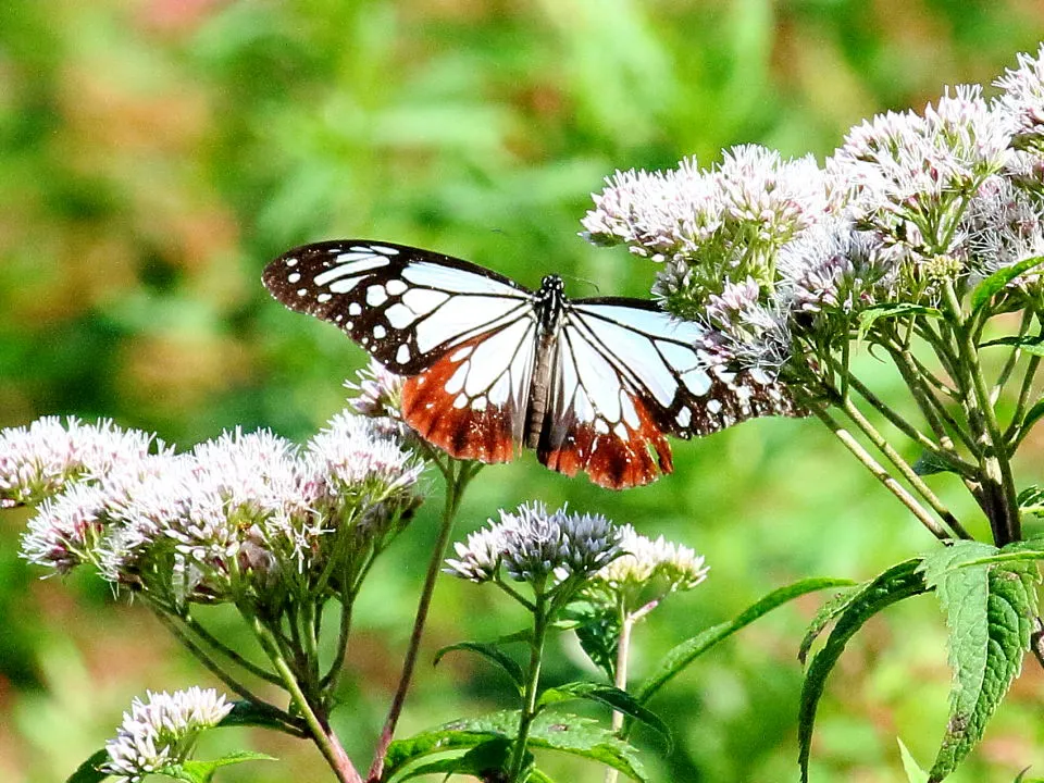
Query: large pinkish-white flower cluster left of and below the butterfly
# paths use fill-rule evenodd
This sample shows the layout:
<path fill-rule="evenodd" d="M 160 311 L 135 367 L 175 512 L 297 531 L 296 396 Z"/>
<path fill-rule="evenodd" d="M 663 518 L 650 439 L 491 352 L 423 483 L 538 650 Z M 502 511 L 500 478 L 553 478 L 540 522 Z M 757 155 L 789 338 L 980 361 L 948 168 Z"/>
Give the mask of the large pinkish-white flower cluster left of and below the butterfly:
<path fill-rule="evenodd" d="M 74 452 L 82 432 L 69 431 Z M 307 587 L 334 570 L 331 558 L 363 557 L 400 529 L 422 469 L 396 433 L 347 413 L 303 449 L 236 430 L 188 453 L 128 450 L 45 500 L 22 555 L 60 573 L 90 562 L 178 601 L 260 597 L 283 577 Z M 21 475 L 2 480 L 18 486 Z"/>

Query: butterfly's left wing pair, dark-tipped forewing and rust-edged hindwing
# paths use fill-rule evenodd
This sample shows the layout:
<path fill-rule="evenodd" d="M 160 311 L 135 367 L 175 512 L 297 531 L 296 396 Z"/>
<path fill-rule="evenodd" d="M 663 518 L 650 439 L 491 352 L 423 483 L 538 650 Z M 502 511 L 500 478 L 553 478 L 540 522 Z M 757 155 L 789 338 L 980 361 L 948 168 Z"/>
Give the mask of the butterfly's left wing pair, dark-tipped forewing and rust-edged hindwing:
<path fill-rule="evenodd" d="M 358 239 L 290 250 L 263 282 L 408 376 L 403 418 L 427 440 L 461 459 L 513 457 L 535 350 L 531 291 L 461 259 Z"/>

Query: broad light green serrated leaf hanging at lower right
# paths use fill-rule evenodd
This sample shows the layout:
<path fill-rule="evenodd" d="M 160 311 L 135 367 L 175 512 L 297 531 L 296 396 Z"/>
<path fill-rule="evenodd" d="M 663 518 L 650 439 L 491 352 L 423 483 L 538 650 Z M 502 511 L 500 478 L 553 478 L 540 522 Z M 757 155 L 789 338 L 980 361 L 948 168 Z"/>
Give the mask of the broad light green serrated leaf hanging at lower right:
<path fill-rule="evenodd" d="M 949 720 L 932 766 L 932 783 L 953 772 L 982 738 L 1030 647 L 1040 582 L 1035 564 L 972 564 L 1004 554 L 989 544 L 957 542 L 924 559 L 925 583 L 935 587 L 946 614 L 954 670 Z"/>

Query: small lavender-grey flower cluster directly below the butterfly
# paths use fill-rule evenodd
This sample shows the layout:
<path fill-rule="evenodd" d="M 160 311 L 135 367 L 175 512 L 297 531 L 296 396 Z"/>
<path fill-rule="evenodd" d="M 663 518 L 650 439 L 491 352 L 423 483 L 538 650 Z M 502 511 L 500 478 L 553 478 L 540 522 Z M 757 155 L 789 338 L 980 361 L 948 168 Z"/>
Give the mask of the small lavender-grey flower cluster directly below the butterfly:
<path fill-rule="evenodd" d="M 472 582 L 488 582 L 502 566 L 517 582 L 543 587 L 581 581 L 620 552 L 619 532 L 605 517 L 548 512 L 540 502 L 518 511 L 500 511 L 500 522 L 472 533 L 456 544 L 457 558 L 446 561 L 447 573 Z"/>

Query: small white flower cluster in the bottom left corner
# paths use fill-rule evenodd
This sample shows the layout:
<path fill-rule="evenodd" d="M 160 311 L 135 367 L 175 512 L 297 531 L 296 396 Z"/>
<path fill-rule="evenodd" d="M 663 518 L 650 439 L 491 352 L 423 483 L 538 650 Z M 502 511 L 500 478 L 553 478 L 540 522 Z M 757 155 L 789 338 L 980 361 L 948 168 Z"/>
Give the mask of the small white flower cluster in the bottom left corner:
<path fill-rule="evenodd" d="M 119 783 L 138 783 L 152 772 L 188 759 L 202 731 L 212 729 L 233 705 L 213 688 L 149 693 L 124 712 L 116 736 L 105 743 L 101 771 Z"/>

